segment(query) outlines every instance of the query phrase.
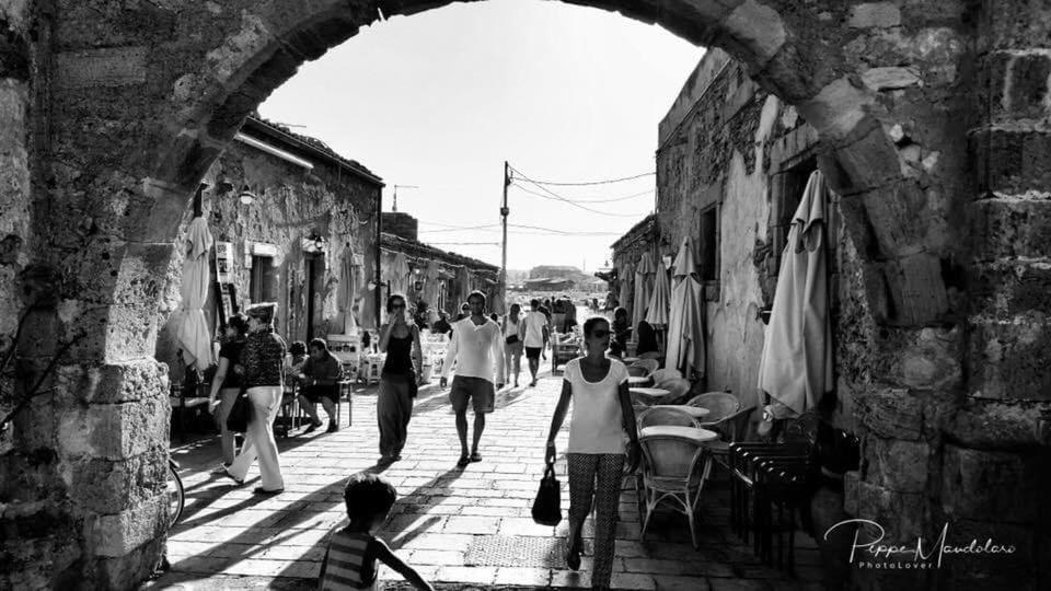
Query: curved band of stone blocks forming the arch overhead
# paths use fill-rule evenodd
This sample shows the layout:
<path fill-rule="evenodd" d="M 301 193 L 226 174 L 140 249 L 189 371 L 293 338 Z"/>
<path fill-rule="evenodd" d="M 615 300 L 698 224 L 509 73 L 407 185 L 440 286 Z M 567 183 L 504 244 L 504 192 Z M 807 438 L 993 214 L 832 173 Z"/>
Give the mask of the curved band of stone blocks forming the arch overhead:
<path fill-rule="evenodd" d="M 221 42 L 203 68 L 188 68 L 166 97 L 169 117 L 148 154 L 143 217 L 146 240 L 166 242 L 186 210 L 190 189 L 244 116 L 298 67 L 320 58 L 382 16 L 409 15 L 451 1 L 378 0 L 347 2 L 277 1 L 227 19 Z M 656 23 L 704 46 L 726 49 L 749 67 L 767 91 L 795 105 L 819 132 L 821 167 L 847 195 L 846 220 L 866 259 L 866 286 L 877 322 L 919 325 L 948 310 L 940 278 L 944 235 L 937 220 L 917 218 L 927 209 L 916 179 L 902 173 L 901 158 L 882 120 L 888 109 L 876 92 L 852 74 L 846 58 L 830 43 L 845 36 L 790 2 L 674 0 L 621 2 L 570 0 Z M 222 16 L 221 14 L 218 16 Z M 821 32 L 813 35 L 815 32 Z M 834 46 L 833 46 L 834 47 Z M 186 96 L 198 96 L 178 103 Z M 919 220 L 919 221 L 917 221 Z"/>

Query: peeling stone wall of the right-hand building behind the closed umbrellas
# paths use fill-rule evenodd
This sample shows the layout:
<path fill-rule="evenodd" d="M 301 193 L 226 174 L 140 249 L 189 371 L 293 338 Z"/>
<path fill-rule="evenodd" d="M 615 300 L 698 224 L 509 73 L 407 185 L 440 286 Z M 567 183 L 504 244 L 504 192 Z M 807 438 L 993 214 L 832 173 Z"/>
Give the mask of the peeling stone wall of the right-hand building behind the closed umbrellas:
<path fill-rule="evenodd" d="M 816 143 L 812 134 L 798 144 L 787 141 L 801 125 L 793 114 L 753 83 L 742 63 L 709 49 L 659 128 L 656 240 L 661 255 L 674 256 L 688 236 L 696 251 L 701 212 L 716 207 L 719 274 L 705 287 L 706 383 L 730 389 L 746 405 L 762 403 L 759 313 L 773 303 L 777 274 L 771 175 Z"/>

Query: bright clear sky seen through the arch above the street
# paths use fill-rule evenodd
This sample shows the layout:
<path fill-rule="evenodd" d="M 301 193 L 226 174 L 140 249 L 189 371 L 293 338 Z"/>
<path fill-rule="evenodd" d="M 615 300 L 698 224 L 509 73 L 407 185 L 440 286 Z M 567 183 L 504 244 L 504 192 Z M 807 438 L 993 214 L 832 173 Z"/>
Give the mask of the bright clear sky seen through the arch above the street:
<path fill-rule="evenodd" d="M 593 271 L 654 210 L 657 125 L 703 51 L 592 8 L 455 3 L 362 27 L 259 113 L 382 177 L 384 211 L 401 185 L 420 241 L 497 266 L 508 161 L 508 269 Z"/>

